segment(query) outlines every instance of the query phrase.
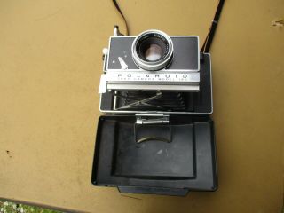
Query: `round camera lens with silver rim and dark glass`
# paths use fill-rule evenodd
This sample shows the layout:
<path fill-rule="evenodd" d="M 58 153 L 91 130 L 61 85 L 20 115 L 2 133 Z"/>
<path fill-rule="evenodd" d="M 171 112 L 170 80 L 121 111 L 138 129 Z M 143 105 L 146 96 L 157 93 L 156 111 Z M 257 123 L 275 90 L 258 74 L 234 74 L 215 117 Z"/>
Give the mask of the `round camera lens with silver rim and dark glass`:
<path fill-rule="evenodd" d="M 138 67 L 160 70 L 172 59 L 173 45 L 170 36 L 162 31 L 148 30 L 140 34 L 132 44 L 132 56 Z"/>

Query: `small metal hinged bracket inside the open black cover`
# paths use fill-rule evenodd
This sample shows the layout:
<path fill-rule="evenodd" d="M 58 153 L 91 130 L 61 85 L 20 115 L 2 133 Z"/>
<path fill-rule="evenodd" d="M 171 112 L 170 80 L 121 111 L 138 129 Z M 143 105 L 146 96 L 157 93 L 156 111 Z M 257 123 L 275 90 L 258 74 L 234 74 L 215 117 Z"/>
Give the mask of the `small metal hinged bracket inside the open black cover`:
<path fill-rule="evenodd" d="M 170 116 L 168 114 L 136 114 L 134 138 L 136 143 L 150 140 L 171 142 Z"/>

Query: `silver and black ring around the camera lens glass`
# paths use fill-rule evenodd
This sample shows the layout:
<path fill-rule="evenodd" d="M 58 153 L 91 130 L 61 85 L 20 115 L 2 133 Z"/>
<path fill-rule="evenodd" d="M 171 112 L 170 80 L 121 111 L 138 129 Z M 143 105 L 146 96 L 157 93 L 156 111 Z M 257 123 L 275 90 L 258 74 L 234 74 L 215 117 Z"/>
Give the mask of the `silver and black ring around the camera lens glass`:
<path fill-rule="evenodd" d="M 157 36 L 162 36 L 162 38 L 166 40 L 167 44 L 169 45 L 168 52 L 164 57 L 162 57 L 162 59 L 159 59 L 156 61 L 147 61 L 145 59 L 141 59 L 138 56 L 137 43 L 141 38 L 147 35 L 153 35 L 153 34 Z M 165 34 L 164 32 L 160 30 L 151 29 L 151 30 L 146 30 L 145 32 L 139 34 L 136 37 L 136 39 L 132 43 L 131 51 L 132 51 L 132 58 L 138 67 L 148 70 L 148 71 L 156 71 L 156 70 L 161 70 L 162 68 L 167 67 L 170 64 L 173 58 L 174 49 L 173 49 L 173 43 L 170 39 L 170 36 L 168 36 L 167 34 Z"/>

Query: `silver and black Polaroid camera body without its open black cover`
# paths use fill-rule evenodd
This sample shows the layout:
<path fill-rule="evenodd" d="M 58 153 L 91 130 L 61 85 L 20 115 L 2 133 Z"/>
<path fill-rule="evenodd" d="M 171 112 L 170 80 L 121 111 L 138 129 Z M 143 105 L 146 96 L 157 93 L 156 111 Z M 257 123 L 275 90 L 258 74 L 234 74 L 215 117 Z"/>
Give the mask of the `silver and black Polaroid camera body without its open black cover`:
<path fill-rule="evenodd" d="M 208 53 L 200 53 L 198 36 L 169 36 L 171 51 L 170 45 L 168 48 L 163 47 L 163 51 L 171 52 L 171 56 L 168 54 L 167 58 L 167 53 L 162 54 L 160 50 L 160 56 L 162 58 L 164 55 L 166 62 L 161 67 L 159 60 L 148 62 L 145 59 L 143 62 L 148 64 L 138 61 L 141 53 L 136 52 L 143 51 L 143 48 L 139 49 L 137 43 L 145 34 L 164 35 L 158 30 L 148 30 L 139 36 L 110 37 L 99 85 L 100 111 L 119 114 L 212 114 L 211 60 Z M 148 40 L 150 38 L 147 37 Z M 155 49 L 152 50 L 153 55 L 156 57 Z M 130 101 L 126 99 L 127 96 L 141 97 L 141 103 L 138 104 L 139 99 Z M 163 102 L 165 105 L 162 105 Z"/>

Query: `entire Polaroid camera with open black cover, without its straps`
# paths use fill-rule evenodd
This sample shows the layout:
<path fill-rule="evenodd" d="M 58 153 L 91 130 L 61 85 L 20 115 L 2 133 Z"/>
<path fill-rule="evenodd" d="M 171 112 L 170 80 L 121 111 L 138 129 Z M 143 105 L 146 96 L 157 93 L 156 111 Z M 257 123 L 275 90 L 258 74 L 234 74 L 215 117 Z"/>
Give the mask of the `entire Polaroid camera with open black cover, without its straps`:
<path fill-rule="evenodd" d="M 91 182 L 121 193 L 217 189 L 211 60 L 198 36 L 114 27 L 99 93 Z"/>

